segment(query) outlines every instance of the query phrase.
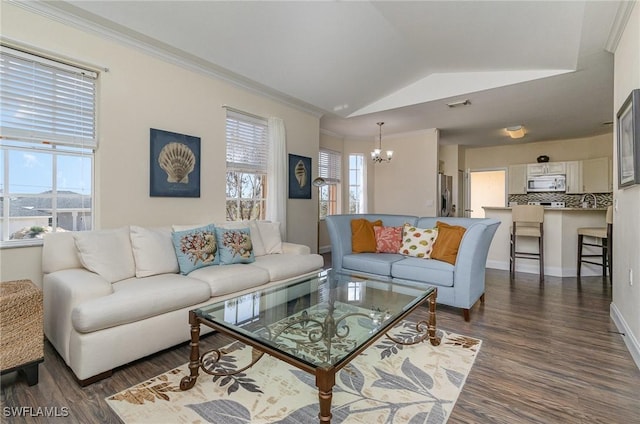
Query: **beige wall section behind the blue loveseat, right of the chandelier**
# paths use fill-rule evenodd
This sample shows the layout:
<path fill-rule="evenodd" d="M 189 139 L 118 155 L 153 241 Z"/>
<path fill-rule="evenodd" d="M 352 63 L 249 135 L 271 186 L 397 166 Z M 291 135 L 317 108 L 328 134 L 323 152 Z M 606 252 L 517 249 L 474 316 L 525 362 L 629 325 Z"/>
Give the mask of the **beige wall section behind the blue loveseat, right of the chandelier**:
<path fill-rule="evenodd" d="M 436 215 L 438 130 L 385 136 L 383 150 L 393 150 L 390 163 L 374 168 L 375 213 Z"/>

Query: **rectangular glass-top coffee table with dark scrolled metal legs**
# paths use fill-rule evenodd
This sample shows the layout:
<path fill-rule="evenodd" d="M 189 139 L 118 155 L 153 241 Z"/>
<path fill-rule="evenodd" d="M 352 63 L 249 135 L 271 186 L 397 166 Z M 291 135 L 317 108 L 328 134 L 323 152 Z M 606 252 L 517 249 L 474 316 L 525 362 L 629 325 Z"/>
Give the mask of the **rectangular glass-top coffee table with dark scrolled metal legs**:
<path fill-rule="evenodd" d="M 382 336 L 416 344 L 436 335 L 434 287 L 409 286 L 331 270 L 279 286 L 212 303 L 189 312 L 190 375 L 180 382 L 192 388 L 199 371 L 232 375 L 253 366 L 265 353 L 315 376 L 321 423 L 331 422 L 336 373 Z M 428 302 L 428 321 L 416 324 L 418 336 L 396 340 L 388 331 Z M 206 325 L 253 348 L 252 361 L 240 369 L 217 366 L 218 349 L 200 354 L 200 326 Z"/>

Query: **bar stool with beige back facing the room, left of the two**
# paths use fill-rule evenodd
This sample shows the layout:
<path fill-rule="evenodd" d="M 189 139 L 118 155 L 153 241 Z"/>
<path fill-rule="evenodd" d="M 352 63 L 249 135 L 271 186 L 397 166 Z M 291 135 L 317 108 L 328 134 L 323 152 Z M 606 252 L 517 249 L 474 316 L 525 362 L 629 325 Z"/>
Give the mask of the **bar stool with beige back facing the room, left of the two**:
<path fill-rule="evenodd" d="M 540 262 L 540 281 L 544 281 L 544 206 L 516 205 L 511 207 L 511 255 L 509 270 L 511 276 L 516 270 L 516 258 L 535 259 Z M 519 252 L 516 248 L 518 237 L 537 237 L 538 252 Z"/>

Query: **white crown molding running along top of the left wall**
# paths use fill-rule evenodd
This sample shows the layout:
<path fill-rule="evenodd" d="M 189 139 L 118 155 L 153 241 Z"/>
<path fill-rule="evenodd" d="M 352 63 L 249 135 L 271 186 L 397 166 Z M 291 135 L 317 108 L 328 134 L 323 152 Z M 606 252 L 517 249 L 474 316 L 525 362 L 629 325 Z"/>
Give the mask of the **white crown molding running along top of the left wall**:
<path fill-rule="evenodd" d="M 138 32 L 132 31 L 121 25 L 93 14 L 65 2 L 58 1 L 18 1 L 7 0 L 12 5 L 18 6 L 29 12 L 44 16 L 48 19 L 70 25 L 82 31 L 99 35 L 103 38 L 115 41 L 128 47 L 132 47 L 147 55 L 156 57 L 165 62 L 180 66 L 190 71 L 198 72 L 223 80 L 236 87 L 267 97 L 284 105 L 290 106 L 301 112 L 308 113 L 315 118 L 320 118 L 326 112 L 302 100 L 274 90 L 249 78 L 235 74 L 221 66 L 205 61 L 180 49 L 153 40 Z"/>

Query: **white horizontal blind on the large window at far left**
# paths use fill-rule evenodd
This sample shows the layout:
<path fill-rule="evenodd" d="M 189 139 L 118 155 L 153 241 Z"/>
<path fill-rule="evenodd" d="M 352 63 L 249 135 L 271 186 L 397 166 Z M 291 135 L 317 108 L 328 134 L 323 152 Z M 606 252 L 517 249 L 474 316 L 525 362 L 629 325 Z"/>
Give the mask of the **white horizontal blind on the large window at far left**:
<path fill-rule="evenodd" d="M 97 76 L 2 46 L 0 135 L 95 148 Z"/>

